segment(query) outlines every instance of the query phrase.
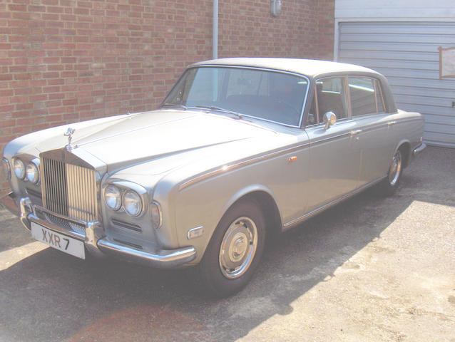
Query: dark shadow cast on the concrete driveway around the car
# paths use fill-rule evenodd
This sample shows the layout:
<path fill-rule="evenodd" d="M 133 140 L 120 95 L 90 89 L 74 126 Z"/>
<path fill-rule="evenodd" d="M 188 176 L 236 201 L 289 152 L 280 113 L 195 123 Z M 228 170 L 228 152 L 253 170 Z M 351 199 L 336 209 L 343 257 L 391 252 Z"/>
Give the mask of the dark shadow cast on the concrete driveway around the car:
<path fill-rule="evenodd" d="M 455 150 L 429 148 L 405 170 L 393 197 L 369 190 L 285 232 L 268 244 L 252 282 L 227 299 L 205 298 L 188 271 L 44 249 L 0 271 L 0 339 L 235 341 L 290 314 L 293 301 L 380 238 L 412 202 L 455 206 L 445 181 L 454 166 Z"/>

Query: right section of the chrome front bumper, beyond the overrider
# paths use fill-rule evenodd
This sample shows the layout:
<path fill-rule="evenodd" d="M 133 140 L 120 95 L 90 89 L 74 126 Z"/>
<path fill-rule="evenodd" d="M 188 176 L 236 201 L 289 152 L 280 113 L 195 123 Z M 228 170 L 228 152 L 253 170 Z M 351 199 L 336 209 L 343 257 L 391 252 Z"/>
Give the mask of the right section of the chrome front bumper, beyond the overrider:
<path fill-rule="evenodd" d="M 161 249 L 150 253 L 133 247 L 113 243 L 106 238 L 98 241 L 98 248 L 106 254 L 111 253 L 114 256 L 121 257 L 128 261 L 160 269 L 180 266 L 193 261 L 196 258 L 196 250 L 194 247 Z"/>

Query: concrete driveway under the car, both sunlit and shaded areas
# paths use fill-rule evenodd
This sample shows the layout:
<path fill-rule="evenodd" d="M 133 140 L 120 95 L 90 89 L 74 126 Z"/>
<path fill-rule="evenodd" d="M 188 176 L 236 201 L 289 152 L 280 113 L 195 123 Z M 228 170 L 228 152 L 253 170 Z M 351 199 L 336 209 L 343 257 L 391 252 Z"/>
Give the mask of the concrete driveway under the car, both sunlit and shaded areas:
<path fill-rule="evenodd" d="M 184 271 L 88 263 L 0 208 L 0 341 L 455 342 L 455 150 L 427 148 L 268 247 L 247 288 L 204 299 Z"/>

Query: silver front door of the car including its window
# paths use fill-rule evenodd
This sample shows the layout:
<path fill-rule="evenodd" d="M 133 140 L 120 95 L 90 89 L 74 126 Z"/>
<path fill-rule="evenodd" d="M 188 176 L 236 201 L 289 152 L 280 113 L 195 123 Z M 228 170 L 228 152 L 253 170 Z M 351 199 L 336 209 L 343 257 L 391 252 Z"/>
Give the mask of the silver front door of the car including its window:
<path fill-rule="evenodd" d="M 359 185 L 360 145 L 355 123 L 348 117 L 346 81 L 344 77 L 332 77 L 316 82 L 319 124 L 306 129 L 310 138 L 307 213 L 352 192 Z M 337 115 L 337 123 L 326 129 L 323 117 L 327 112 Z"/>

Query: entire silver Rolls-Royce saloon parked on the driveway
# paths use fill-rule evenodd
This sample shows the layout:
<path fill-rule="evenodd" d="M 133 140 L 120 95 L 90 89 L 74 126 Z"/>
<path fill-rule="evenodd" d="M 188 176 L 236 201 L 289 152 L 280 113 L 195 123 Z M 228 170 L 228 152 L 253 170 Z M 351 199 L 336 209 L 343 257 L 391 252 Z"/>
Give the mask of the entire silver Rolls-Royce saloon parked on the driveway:
<path fill-rule="evenodd" d="M 194 267 L 242 289 L 265 239 L 352 195 L 386 195 L 425 148 L 361 66 L 227 58 L 189 66 L 157 110 L 24 135 L 4 148 L 1 202 L 37 240 L 85 259 Z"/>

